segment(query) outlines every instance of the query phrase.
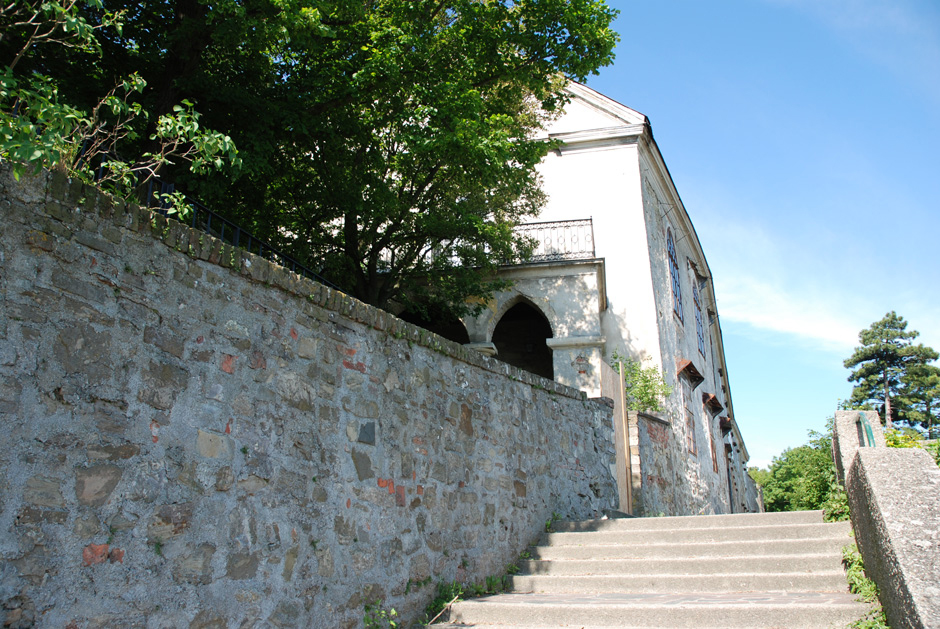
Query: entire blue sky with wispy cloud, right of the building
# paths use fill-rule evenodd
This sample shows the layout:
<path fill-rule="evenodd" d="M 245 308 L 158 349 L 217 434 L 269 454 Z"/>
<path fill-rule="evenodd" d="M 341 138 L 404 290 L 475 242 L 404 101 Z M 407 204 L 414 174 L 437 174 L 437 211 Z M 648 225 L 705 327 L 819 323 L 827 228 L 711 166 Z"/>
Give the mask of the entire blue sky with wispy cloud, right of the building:
<path fill-rule="evenodd" d="M 940 349 L 940 3 L 658 0 L 588 85 L 646 114 L 715 278 L 752 465 L 822 430 L 889 310 Z"/>

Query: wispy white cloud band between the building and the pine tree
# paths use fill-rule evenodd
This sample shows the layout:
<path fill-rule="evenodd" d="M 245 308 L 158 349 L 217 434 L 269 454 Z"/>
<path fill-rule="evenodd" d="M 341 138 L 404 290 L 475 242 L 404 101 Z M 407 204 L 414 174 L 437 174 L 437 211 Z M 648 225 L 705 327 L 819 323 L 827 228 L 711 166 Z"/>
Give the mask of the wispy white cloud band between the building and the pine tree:
<path fill-rule="evenodd" d="M 917 342 L 940 349 L 936 293 L 920 290 L 916 280 L 893 277 L 896 270 L 876 262 L 865 267 L 845 249 L 815 247 L 799 234 L 775 235 L 728 218 L 700 225 L 722 321 L 844 357 L 860 330 L 895 310 L 921 332 Z"/>

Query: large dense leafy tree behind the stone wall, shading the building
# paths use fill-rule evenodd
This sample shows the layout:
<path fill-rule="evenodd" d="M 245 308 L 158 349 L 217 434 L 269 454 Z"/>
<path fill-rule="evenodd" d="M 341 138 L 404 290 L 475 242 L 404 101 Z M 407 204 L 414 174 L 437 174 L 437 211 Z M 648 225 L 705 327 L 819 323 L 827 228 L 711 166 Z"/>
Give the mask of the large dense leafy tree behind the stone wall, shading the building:
<path fill-rule="evenodd" d="M 244 160 L 237 177 L 168 174 L 356 297 L 425 312 L 459 313 L 524 257 L 512 228 L 544 201 L 552 146 L 533 137 L 617 41 L 600 0 L 122 8 L 92 81 L 140 72 L 149 108 L 196 103 Z M 88 102 L 74 55 L 44 65 Z"/>

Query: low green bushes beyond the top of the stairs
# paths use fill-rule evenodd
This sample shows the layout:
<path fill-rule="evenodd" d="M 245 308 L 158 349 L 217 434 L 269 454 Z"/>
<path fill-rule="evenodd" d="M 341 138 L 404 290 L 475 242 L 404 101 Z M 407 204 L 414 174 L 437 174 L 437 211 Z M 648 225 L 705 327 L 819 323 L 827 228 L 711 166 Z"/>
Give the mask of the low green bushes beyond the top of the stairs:
<path fill-rule="evenodd" d="M 767 511 L 823 509 L 829 521 L 847 519 L 847 498 L 832 461 L 832 420 L 825 434 L 809 436 L 809 443 L 774 457 L 768 470 L 751 468 L 748 474 L 761 486 Z"/>

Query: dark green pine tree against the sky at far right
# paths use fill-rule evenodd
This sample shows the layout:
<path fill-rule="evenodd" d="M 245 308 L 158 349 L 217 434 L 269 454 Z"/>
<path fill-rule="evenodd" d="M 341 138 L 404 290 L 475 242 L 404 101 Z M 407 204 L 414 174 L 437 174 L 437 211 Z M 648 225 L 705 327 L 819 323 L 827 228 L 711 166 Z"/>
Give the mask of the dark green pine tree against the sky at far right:
<path fill-rule="evenodd" d="M 856 383 L 850 401 L 853 404 L 881 401 L 884 404 L 882 422 L 889 429 L 893 421 L 907 419 L 903 399 L 897 400 L 901 404 L 892 405 L 893 398 L 900 392 L 904 374 L 938 357 L 933 349 L 912 344 L 919 335 L 914 330 L 907 331 L 907 321 L 891 311 L 859 332 L 861 345 L 844 362 L 846 368 L 856 368 L 849 376 L 849 382 Z"/>

